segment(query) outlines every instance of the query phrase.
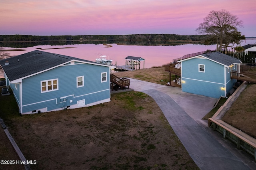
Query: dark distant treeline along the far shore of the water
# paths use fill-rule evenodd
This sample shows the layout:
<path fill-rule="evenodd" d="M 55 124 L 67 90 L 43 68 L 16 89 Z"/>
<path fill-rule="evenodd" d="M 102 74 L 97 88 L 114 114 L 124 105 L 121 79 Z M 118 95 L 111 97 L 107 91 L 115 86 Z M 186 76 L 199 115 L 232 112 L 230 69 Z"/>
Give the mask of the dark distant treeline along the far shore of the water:
<path fill-rule="evenodd" d="M 41 41 L 92 41 L 92 40 L 143 40 L 143 41 L 204 41 L 206 36 L 182 36 L 176 34 L 132 34 L 132 35 L 80 35 L 80 36 L 31 36 L 0 35 L 0 42 L 41 42 Z"/>

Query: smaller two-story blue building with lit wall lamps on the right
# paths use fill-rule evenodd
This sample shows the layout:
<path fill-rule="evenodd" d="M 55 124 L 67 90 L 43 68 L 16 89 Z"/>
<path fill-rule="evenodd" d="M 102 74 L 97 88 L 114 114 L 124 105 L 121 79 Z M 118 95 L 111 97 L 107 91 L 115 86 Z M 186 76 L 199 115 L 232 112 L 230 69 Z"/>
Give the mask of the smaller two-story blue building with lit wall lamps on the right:
<path fill-rule="evenodd" d="M 240 73 L 241 61 L 229 55 L 213 52 L 178 61 L 181 63 L 182 91 L 213 98 L 227 97 Z"/>

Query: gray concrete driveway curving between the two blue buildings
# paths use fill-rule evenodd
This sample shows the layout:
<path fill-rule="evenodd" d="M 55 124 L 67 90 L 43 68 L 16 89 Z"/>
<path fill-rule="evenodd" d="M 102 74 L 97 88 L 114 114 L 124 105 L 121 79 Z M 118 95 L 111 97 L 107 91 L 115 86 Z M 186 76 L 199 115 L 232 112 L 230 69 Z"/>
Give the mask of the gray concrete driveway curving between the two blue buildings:
<path fill-rule="evenodd" d="M 130 78 L 129 78 L 130 79 Z M 158 104 L 172 129 L 201 170 L 249 170 L 254 162 L 234 154 L 220 136 L 202 120 L 217 99 L 194 95 L 181 88 L 130 79 L 130 88 L 150 95 Z M 224 147 L 225 146 L 225 147 Z M 234 146 L 235 147 L 235 146 Z M 231 151 L 230 151 L 231 150 Z M 239 151 L 238 151 L 239 152 Z M 249 164 L 248 164 L 249 162 Z"/>

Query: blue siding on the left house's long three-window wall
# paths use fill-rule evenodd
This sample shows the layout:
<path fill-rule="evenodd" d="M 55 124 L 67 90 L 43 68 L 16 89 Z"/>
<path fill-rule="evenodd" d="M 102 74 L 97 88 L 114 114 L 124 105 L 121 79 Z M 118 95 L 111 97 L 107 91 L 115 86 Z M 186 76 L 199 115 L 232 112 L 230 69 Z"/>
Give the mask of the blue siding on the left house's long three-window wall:
<path fill-rule="evenodd" d="M 85 104 L 110 98 L 109 67 L 92 64 L 64 65 L 23 79 L 23 113 L 48 108 L 48 111 L 74 105 L 85 99 Z M 101 83 L 101 73 L 107 81 Z M 78 76 L 84 76 L 84 86 L 76 87 Z M 41 93 L 41 81 L 58 79 L 58 90 Z M 64 102 L 65 98 L 66 101 Z M 49 100 L 49 101 L 48 101 Z M 70 103 L 72 100 L 72 103 Z M 44 102 L 42 102 L 44 101 Z M 35 103 L 31 105 L 32 103 Z"/>

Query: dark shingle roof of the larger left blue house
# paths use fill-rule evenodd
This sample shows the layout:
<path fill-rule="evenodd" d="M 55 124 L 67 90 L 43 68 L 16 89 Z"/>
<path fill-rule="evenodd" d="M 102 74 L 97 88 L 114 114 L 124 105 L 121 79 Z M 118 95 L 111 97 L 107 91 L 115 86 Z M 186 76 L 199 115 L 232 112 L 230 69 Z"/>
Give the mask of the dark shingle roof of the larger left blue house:
<path fill-rule="evenodd" d="M 8 79 L 13 81 L 40 71 L 44 71 L 46 69 L 50 69 L 74 59 L 95 63 L 93 61 L 78 59 L 66 55 L 35 50 L 14 57 L 2 59 L 0 60 L 0 65 L 2 66 Z M 9 65 L 5 64 L 6 61 L 9 62 Z"/>

